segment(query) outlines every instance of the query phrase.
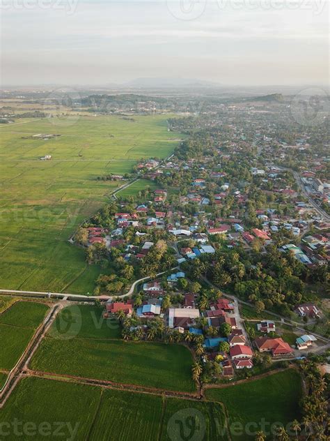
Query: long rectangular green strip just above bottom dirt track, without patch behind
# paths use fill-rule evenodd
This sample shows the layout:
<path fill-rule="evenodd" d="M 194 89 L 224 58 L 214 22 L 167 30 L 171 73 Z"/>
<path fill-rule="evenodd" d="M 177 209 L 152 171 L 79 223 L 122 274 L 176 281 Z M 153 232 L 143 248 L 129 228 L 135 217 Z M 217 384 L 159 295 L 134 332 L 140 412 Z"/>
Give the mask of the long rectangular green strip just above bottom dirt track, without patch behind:
<path fill-rule="evenodd" d="M 182 345 L 46 337 L 34 354 L 31 368 L 125 384 L 194 391 L 191 364 L 191 353 Z"/>

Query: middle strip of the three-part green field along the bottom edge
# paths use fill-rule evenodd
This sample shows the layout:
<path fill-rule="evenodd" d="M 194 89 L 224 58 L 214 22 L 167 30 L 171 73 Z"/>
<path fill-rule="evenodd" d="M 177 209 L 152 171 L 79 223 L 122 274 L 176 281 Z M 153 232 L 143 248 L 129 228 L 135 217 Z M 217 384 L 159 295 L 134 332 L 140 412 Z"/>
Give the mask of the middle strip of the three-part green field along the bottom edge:
<path fill-rule="evenodd" d="M 157 441 L 162 397 L 104 390 L 90 441 Z"/>

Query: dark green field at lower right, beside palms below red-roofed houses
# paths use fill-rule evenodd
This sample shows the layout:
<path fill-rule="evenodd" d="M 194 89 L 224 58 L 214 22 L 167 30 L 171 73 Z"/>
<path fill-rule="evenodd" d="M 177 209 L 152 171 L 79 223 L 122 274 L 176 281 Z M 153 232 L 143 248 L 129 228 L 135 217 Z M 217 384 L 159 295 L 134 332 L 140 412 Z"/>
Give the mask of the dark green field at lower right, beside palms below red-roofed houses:
<path fill-rule="evenodd" d="M 226 406 L 233 440 L 253 438 L 246 431 L 235 433 L 237 424 L 246 428 L 246 424 L 253 423 L 258 431 L 263 420 L 286 425 L 301 417 L 301 378 L 293 369 L 224 389 L 207 389 L 206 396 Z"/>

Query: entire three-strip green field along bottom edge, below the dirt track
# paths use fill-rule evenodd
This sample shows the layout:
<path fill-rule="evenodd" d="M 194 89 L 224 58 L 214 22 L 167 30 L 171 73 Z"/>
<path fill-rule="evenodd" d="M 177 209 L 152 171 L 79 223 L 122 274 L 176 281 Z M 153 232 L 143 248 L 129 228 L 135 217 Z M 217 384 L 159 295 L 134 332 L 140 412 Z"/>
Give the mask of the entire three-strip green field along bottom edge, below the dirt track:
<path fill-rule="evenodd" d="M 63 401 L 63 397 L 65 400 Z M 150 394 L 101 389 L 84 384 L 58 382 L 40 378 L 26 378 L 19 382 L 0 414 L 2 421 L 17 418 L 22 424 L 33 423 L 37 431 L 47 421 L 54 431 L 61 427 L 65 440 L 75 433 L 76 440 L 174 440 L 180 433 L 180 421 L 193 417 L 205 439 L 227 440 L 221 435 L 224 416 L 217 403 L 200 403 L 178 398 L 164 398 Z M 201 426 L 199 426 L 201 424 Z M 171 435 L 171 438 L 170 436 Z M 47 439 L 38 433 L 36 438 Z M 49 436 L 48 436 L 49 438 Z M 54 435 L 55 438 L 55 435 Z M 8 440 L 15 440 L 13 427 L 8 428 Z M 201 438 L 202 439 L 202 438 Z"/>

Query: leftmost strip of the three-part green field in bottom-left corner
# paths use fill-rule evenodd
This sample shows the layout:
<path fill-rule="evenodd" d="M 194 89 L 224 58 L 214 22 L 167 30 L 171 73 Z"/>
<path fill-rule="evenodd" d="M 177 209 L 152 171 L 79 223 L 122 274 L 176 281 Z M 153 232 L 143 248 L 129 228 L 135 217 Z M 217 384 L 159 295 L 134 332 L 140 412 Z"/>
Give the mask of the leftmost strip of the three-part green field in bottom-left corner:
<path fill-rule="evenodd" d="M 25 378 L 1 409 L 0 423 L 8 433 L 4 439 L 84 440 L 99 399 L 97 387 Z M 15 433 L 15 421 L 22 435 Z"/>

